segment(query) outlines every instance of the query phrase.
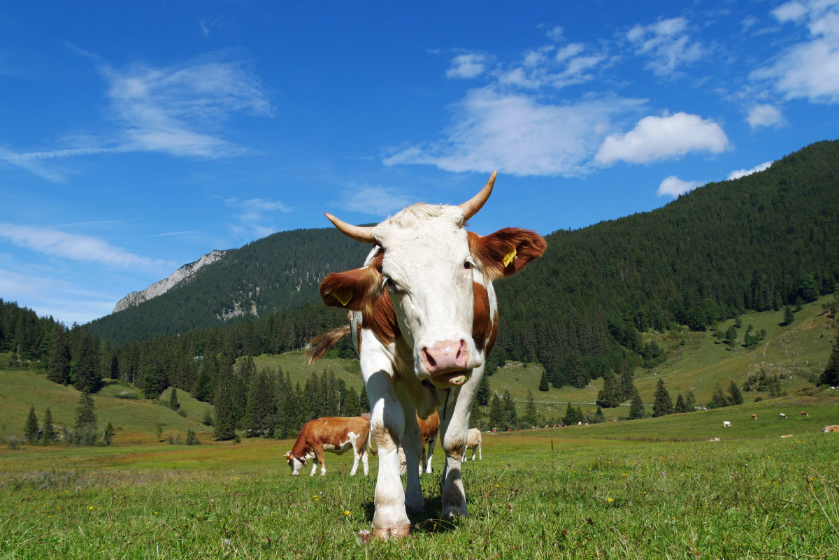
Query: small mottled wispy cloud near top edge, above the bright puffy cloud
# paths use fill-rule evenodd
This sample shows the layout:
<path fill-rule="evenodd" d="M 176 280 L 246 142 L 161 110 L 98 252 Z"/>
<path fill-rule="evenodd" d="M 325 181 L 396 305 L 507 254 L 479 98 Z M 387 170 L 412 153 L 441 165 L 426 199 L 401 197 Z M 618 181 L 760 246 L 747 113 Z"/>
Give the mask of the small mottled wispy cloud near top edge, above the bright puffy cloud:
<path fill-rule="evenodd" d="M 627 39 L 639 56 L 649 57 L 645 66 L 655 75 L 675 75 L 676 68 L 701 59 L 705 49 L 691 41 L 685 18 L 664 19 L 649 25 L 635 25 Z"/>

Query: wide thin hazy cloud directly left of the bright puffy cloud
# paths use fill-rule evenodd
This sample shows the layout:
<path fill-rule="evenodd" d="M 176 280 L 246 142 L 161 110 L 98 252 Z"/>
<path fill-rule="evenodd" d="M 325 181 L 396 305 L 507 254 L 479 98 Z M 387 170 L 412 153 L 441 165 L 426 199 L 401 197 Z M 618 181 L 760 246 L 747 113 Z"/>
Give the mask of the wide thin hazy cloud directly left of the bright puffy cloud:
<path fill-rule="evenodd" d="M 394 153 L 387 165 L 430 164 L 447 171 L 498 169 L 515 175 L 579 176 L 610 130 L 612 119 L 638 111 L 644 101 L 601 99 L 550 105 L 533 96 L 472 90 L 456 106 L 440 142 Z"/>

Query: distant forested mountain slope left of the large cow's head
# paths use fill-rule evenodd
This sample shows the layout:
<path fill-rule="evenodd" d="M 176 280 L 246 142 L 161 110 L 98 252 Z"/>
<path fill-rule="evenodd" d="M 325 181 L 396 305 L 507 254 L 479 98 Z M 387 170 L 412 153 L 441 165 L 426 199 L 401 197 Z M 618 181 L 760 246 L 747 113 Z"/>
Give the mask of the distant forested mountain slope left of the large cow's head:
<path fill-rule="evenodd" d="M 317 286 L 326 274 L 358 267 L 367 251 L 335 228 L 275 233 L 227 251 L 190 282 L 88 328 L 122 344 L 299 309 L 320 301 Z"/>

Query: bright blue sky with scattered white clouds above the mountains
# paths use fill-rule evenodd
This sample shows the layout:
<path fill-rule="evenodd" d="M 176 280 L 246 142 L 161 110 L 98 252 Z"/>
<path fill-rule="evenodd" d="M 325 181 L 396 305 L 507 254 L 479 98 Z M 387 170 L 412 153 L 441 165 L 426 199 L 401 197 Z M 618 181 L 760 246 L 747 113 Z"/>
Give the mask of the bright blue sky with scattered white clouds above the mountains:
<path fill-rule="evenodd" d="M 679 4 L 3 3 L 0 298 L 85 323 L 493 169 L 473 231 L 576 229 L 839 136 L 839 0 Z"/>

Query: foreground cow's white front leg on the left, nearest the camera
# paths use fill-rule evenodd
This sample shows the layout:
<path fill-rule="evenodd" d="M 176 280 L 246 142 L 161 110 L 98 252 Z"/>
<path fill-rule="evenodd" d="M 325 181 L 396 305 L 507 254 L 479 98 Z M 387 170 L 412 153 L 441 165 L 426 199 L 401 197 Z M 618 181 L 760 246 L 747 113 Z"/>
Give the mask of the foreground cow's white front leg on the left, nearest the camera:
<path fill-rule="evenodd" d="M 363 366 L 362 371 L 365 371 Z M 373 537 L 408 537 L 410 521 L 405 511 L 402 480 L 399 478 L 399 443 L 405 425 L 402 404 L 396 398 L 393 380 L 386 370 L 378 368 L 367 371 L 374 371 L 365 379 L 365 385 L 371 403 L 373 438 L 378 447 Z"/>

